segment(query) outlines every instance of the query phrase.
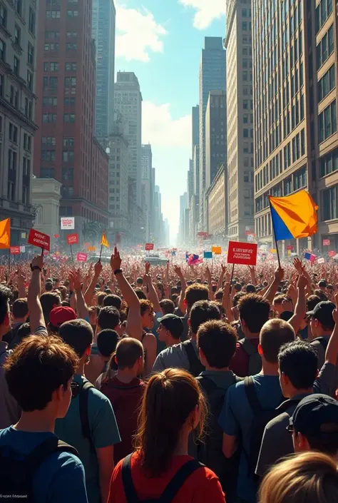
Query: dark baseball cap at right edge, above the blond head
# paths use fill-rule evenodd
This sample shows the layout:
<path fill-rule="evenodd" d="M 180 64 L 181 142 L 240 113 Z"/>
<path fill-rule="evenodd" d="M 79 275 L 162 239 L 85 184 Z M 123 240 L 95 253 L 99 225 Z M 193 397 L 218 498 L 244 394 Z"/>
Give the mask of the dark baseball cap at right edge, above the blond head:
<path fill-rule="evenodd" d="M 306 437 L 338 434 L 338 402 L 319 393 L 304 397 L 290 417 L 287 430 L 296 430 Z"/>

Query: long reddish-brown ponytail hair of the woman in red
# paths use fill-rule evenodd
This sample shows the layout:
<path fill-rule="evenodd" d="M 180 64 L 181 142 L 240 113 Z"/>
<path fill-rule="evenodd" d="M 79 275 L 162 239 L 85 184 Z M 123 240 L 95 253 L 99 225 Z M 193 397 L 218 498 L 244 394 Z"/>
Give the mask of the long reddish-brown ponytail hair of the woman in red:
<path fill-rule="evenodd" d="M 208 408 L 195 377 L 182 369 L 166 369 L 150 377 L 134 439 L 147 476 L 159 477 L 168 469 L 180 430 L 196 405 L 200 408 L 198 437 L 201 437 Z"/>

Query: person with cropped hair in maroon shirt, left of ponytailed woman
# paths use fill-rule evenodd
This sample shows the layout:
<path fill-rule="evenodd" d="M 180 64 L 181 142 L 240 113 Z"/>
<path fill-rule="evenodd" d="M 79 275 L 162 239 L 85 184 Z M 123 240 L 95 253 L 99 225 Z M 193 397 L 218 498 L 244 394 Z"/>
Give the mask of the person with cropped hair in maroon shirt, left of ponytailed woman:
<path fill-rule="evenodd" d="M 139 340 L 125 337 L 118 342 L 111 357 L 117 365 L 114 377 L 103 380 L 101 392 L 111 401 L 121 442 L 114 448 L 114 463 L 133 452 L 132 439 L 138 426 L 138 407 L 143 397 L 145 383 L 142 374 L 143 345 Z"/>

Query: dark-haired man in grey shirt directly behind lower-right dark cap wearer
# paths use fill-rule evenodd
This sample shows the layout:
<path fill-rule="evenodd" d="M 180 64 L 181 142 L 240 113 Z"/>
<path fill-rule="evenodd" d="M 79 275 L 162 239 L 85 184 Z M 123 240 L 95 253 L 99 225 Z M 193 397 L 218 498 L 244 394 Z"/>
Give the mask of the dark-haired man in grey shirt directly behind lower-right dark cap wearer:
<path fill-rule="evenodd" d="M 337 352 L 333 357 L 335 361 Z M 304 340 L 283 345 L 278 353 L 280 387 L 287 400 L 277 407 L 277 417 L 267 423 L 262 437 L 256 474 L 263 477 L 278 459 L 292 454 L 292 437 L 287 431 L 290 417 L 302 398 L 312 393 L 334 392 L 335 366 L 327 358 L 318 372 L 318 357 L 314 347 Z"/>

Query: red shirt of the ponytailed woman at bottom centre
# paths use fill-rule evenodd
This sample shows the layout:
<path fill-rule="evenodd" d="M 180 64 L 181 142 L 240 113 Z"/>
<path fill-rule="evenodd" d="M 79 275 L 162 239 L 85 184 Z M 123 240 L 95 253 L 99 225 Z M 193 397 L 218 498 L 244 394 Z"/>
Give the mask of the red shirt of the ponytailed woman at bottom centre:
<path fill-rule="evenodd" d="M 138 454 L 134 453 L 131 458 L 131 476 L 138 498 L 141 501 L 160 498 L 175 473 L 190 459 L 193 458 L 190 456 L 174 456 L 166 474 L 162 477 L 149 479 L 141 471 Z M 122 482 L 122 462 L 121 460 L 113 471 L 108 503 L 127 503 Z M 172 503 L 205 502 L 225 503 L 225 497 L 215 473 L 207 467 L 201 467 L 185 480 Z"/>

